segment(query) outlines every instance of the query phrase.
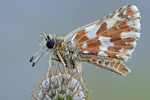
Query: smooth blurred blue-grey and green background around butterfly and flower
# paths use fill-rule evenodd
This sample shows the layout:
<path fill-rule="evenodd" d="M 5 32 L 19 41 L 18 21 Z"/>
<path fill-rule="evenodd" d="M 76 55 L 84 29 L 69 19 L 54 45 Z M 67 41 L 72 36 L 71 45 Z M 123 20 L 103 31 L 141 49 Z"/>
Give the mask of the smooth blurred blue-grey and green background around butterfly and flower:
<path fill-rule="evenodd" d="M 125 6 L 140 10 L 141 38 L 126 63 L 132 73 L 117 75 L 83 63 L 83 78 L 92 100 L 150 100 L 150 0 L 0 0 L 0 100 L 29 100 L 48 56 L 32 68 L 40 32 L 65 36 Z"/>

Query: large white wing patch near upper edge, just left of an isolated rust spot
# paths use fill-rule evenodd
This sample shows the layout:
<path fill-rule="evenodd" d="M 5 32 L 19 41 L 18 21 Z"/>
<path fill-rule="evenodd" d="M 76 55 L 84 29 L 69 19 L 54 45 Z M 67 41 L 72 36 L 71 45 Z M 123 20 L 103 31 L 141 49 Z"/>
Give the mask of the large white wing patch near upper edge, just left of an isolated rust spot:
<path fill-rule="evenodd" d="M 96 37 L 96 32 L 98 31 L 98 29 L 100 28 L 100 25 L 91 25 L 87 28 L 85 28 L 85 32 L 87 32 L 87 34 L 85 34 L 89 39 L 92 39 L 94 37 Z"/>

